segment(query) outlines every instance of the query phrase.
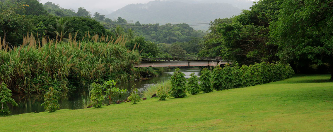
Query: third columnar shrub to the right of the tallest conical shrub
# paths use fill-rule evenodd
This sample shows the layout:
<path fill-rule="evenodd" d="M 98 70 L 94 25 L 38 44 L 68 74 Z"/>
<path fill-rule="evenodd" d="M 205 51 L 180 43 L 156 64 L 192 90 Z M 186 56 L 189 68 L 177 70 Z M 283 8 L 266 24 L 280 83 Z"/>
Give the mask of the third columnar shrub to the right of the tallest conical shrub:
<path fill-rule="evenodd" d="M 212 87 L 214 90 L 222 90 L 223 89 L 223 69 L 220 67 L 220 65 L 217 65 L 213 69 L 213 75 L 212 75 Z"/>

